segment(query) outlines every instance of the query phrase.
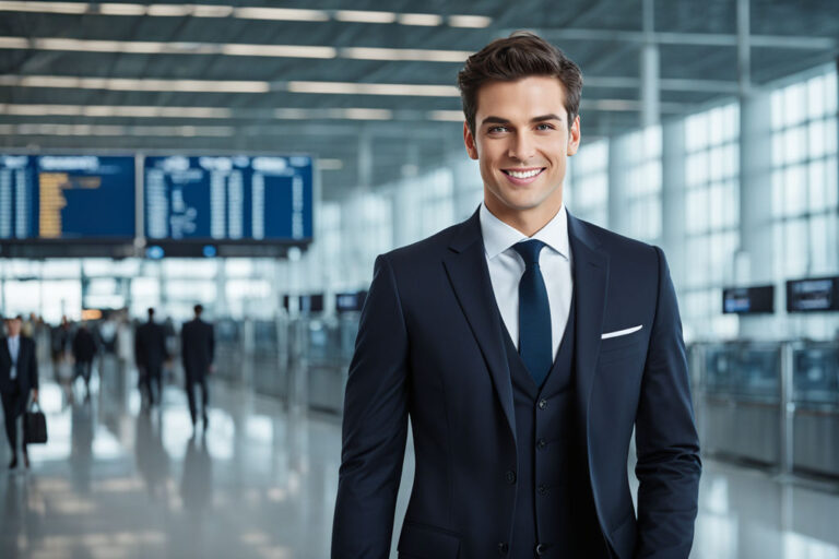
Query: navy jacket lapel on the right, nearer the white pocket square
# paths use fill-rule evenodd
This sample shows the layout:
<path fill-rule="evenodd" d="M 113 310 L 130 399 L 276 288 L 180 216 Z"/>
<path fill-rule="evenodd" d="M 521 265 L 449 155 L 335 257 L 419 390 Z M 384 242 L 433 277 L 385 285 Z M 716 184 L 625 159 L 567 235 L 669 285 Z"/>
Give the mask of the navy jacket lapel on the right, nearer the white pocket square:
<path fill-rule="evenodd" d="M 577 409 L 588 441 L 591 391 L 606 307 L 608 255 L 599 248 L 600 243 L 588 226 L 571 214 L 568 214 L 568 240 L 574 259 L 574 289 L 577 298 Z"/>

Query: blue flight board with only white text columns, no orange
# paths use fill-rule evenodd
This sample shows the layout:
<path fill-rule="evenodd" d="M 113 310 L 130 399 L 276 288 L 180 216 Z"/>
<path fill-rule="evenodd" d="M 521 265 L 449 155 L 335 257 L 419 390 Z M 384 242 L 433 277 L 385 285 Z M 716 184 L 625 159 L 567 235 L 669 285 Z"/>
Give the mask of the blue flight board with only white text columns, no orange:
<path fill-rule="evenodd" d="M 150 243 L 311 240 L 310 157 L 149 156 L 143 173 Z"/>

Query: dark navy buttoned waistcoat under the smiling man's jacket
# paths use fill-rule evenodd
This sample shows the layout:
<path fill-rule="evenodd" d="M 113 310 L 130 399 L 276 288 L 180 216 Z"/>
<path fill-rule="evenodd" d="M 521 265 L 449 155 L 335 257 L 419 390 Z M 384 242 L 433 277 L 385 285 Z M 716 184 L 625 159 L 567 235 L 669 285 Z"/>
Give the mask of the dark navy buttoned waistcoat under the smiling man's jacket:
<path fill-rule="evenodd" d="M 509 557 L 608 558 L 591 496 L 574 399 L 576 302 L 554 365 L 536 386 L 509 334 L 518 479 Z M 505 330 L 506 332 L 506 330 Z"/>

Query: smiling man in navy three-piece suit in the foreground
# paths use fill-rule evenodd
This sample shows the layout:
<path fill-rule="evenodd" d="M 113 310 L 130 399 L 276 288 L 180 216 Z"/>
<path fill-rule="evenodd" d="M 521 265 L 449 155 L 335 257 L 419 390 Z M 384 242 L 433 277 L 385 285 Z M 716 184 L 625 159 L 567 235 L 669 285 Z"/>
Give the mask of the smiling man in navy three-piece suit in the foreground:
<path fill-rule="evenodd" d="M 470 57 L 459 85 L 484 203 L 376 261 L 332 557 L 388 557 L 410 415 L 401 557 L 687 558 L 701 466 L 664 255 L 563 204 L 580 71 L 517 33 Z"/>

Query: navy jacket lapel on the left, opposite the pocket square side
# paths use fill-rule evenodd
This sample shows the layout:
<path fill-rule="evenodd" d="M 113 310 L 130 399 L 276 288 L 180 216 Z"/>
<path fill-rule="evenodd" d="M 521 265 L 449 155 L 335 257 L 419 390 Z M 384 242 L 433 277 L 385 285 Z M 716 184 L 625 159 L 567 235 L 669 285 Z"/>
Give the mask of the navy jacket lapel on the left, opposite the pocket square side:
<path fill-rule="evenodd" d="M 513 439 L 516 416 L 512 386 L 504 350 L 501 321 L 486 266 L 478 212 L 464 222 L 444 258 L 449 282 L 477 340 Z"/>

